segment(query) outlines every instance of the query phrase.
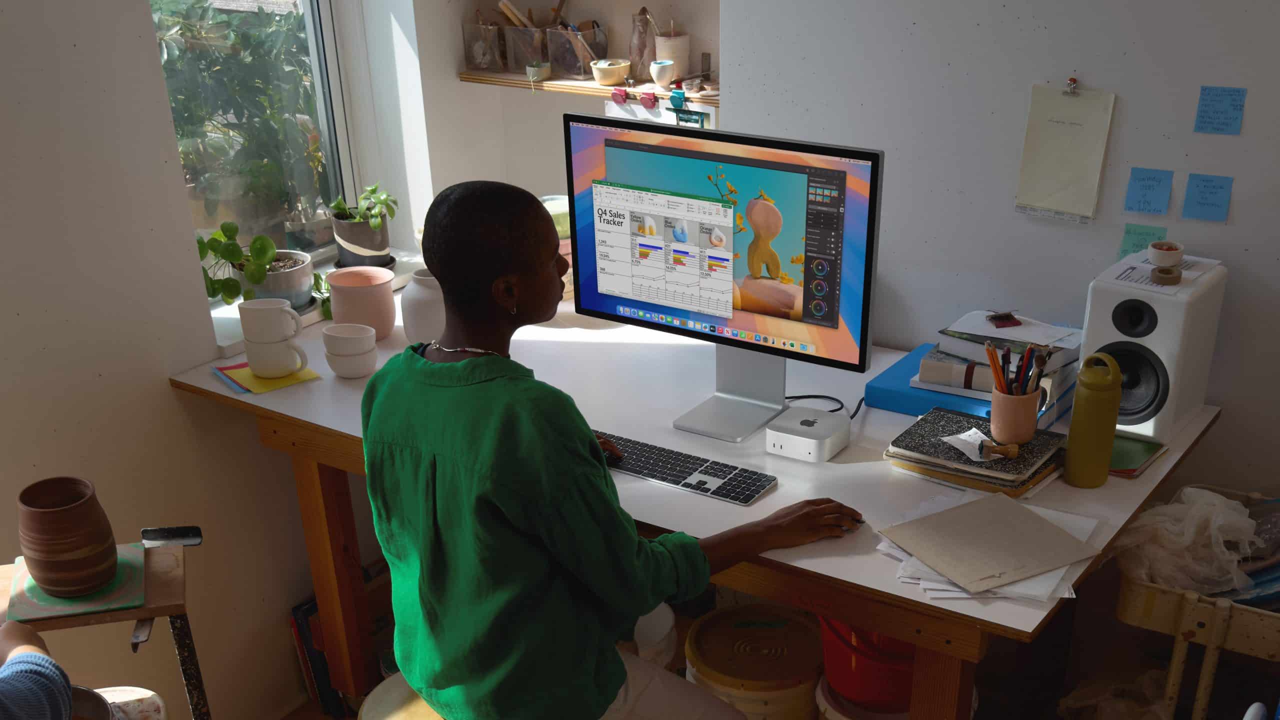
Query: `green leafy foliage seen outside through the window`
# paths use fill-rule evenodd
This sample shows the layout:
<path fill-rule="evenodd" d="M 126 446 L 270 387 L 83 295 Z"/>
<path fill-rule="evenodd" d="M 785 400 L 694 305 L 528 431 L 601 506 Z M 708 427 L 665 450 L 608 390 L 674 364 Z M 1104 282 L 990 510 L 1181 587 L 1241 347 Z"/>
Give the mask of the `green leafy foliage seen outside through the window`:
<path fill-rule="evenodd" d="M 212 215 L 244 196 L 310 220 L 334 192 L 302 13 L 151 0 L 178 154 Z"/>

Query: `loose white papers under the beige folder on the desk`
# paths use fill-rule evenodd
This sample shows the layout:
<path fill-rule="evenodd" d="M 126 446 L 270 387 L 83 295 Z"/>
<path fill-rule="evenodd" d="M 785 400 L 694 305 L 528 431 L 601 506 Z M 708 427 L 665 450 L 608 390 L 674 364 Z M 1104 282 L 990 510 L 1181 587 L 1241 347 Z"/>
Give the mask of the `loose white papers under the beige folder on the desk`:
<path fill-rule="evenodd" d="M 989 497 L 987 493 L 972 491 L 951 496 L 932 497 L 920 503 L 920 506 L 915 510 L 908 512 L 897 525 L 936 515 L 945 510 L 959 507 L 960 505 L 966 505 L 987 497 Z M 1023 505 L 1023 507 L 1030 510 L 1044 520 L 1048 520 L 1057 528 L 1066 530 L 1068 534 L 1080 542 L 1087 542 L 1089 536 L 1093 533 L 1093 529 L 1098 525 L 1098 520 L 1096 518 L 1073 515 L 1070 512 L 1048 510 L 1034 505 Z M 891 530 L 891 528 L 886 528 L 886 530 Z M 920 585 L 920 589 L 924 591 L 925 596 L 934 601 L 1007 597 L 1015 600 L 1050 602 L 1061 597 L 1075 597 L 1075 592 L 1071 589 L 1071 583 L 1066 580 L 1070 564 L 991 589 L 969 592 L 957 583 L 951 582 L 941 573 L 925 565 L 918 557 L 914 557 L 910 552 L 883 534 L 881 536 L 881 543 L 877 550 L 887 557 L 901 561 L 897 571 L 899 580 Z M 1082 560 L 1082 562 L 1084 560 Z"/>

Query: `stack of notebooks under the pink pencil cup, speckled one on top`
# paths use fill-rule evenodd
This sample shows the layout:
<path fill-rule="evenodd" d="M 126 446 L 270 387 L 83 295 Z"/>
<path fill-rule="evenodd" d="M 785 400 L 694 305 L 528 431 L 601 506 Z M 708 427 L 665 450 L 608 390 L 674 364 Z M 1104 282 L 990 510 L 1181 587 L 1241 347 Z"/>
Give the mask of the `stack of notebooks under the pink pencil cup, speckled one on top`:
<path fill-rule="evenodd" d="M 1019 446 L 1018 457 L 970 460 L 942 438 L 977 429 L 991 437 L 991 420 L 936 407 L 893 438 L 884 459 L 895 470 L 951 487 L 1021 497 L 1062 474 L 1066 436 L 1037 430 Z"/>

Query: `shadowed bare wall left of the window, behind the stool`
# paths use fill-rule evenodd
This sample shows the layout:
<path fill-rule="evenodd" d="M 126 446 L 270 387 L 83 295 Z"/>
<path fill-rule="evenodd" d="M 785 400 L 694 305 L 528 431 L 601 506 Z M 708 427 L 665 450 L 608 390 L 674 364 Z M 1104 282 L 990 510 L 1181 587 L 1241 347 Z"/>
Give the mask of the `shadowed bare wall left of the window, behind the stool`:
<path fill-rule="evenodd" d="M 311 592 L 288 460 L 241 413 L 168 386 L 214 357 L 191 215 L 142 0 L 0 4 L 0 557 L 49 475 L 97 484 L 118 542 L 197 524 L 188 607 L 215 717 L 303 697 L 288 609 Z M 188 717 L 166 625 L 46 637 L 73 682 L 143 685 Z"/>

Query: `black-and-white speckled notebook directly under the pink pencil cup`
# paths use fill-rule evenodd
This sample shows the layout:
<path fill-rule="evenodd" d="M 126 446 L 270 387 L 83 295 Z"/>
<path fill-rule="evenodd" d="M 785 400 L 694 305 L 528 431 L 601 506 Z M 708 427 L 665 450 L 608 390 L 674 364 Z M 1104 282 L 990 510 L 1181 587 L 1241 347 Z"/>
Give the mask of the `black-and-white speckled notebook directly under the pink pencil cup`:
<path fill-rule="evenodd" d="M 1029 478 L 1066 441 L 1062 433 L 1036 430 L 1030 442 L 1018 448 L 1018 457 L 1001 457 L 989 462 L 969 460 L 969 457 L 942 442 L 942 438 L 957 436 L 977 428 L 991 437 L 991 420 L 954 410 L 934 407 L 914 425 L 893 438 L 887 455 L 908 460 L 919 460 L 933 465 L 956 468 L 969 473 L 979 473 L 1006 480 Z"/>

